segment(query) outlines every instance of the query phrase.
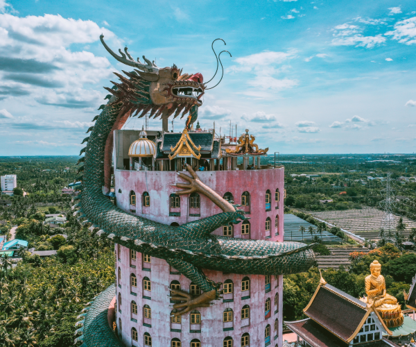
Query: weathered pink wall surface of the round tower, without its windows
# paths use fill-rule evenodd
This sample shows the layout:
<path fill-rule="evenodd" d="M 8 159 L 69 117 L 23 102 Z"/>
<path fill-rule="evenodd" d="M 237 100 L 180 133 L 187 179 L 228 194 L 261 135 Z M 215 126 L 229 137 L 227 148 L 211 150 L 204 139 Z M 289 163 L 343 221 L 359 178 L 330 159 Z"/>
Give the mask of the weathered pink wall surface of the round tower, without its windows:
<path fill-rule="evenodd" d="M 198 176 L 203 183 L 214 189 L 223 196 L 230 192 L 234 196 L 234 203 L 241 203 L 241 194 L 245 191 L 250 193 L 250 239 L 268 239 L 269 241 L 283 241 L 283 192 L 284 192 L 284 169 L 265 169 L 250 171 L 201 171 Z M 181 196 L 180 217 L 169 217 L 169 196 L 179 190 L 173 187 L 174 183 L 184 183 L 174 171 L 115 171 L 115 187 L 117 205 L 125 211 L 135 210 L 133 214 L 146 217 L 153 221 L 170 225 L 173 222 L 178 224 L 187 223 L 209 217 L 220 213 L 220 209 L 205 196 L 200 196 L 200 217 L 189 216 L 189 196 Z M 275 191 L 279 189 L 280 201 L 275 202 Z M 119 193 L 119 189 L 121 193 Z M 266 211 L 266 190 L 272 194 L 271 209 Z M 130 191 L 137 196 L 136 206 L 130 205 Z M 142 194 L 150 194 L 150 208 L 142 206 Z M 277 205 L 279 208 L 277 208 Z M 178 211 L 178 210 L 175 210 Z M 191 210 L 192 212 L 196 212 Z M 279 216 L 279 228 L 275 230 L 275 217 Z M 270 238 L 266 238 L 266 218 L 270 217 Z M 222 228 L 213 232 L 215 235 L 223 235 Z M 234 226 L 234 237 L 241 236 L 241 223 Z M 244 236 L 243 236 L 244 237 Z M 117 246 L 116 246 L 116 253 Z M 241 280 L 243 275 L 225 274 L 219 271 L 204 270 L 205 274 L 215 282 L 225 282 L 230 279 L 234 283 L 234 302 L 224 303 L 222 300 L 214 301 L 211 307 L 201 307 L 198 311 L 201 314 L 201 332 L 190 332 L 190 315 L 182 316 L 181 332 L 171 332 L 170 314 L 173 305 L 168 298 L 168 286 L 171 281 L 178 280 L 182 290 L 189 291 L 190 280 L 185 276 L 171 273 L 170 266 L 164 260 L 152 257 L 151 271 L 142 269 L 141 254 L 137 253 L 135 263 L 130 263 L 130 252 L 128 248 L 120 247 L 120 254 L 117 254 L 116 276 L 118 269 L 121 271 L 121 279 L 117 287 L 117 297 L 121 294 L 121 312 L 118 308 L 117 324 L 119 318 L 122 321 L 121 336 L 126 346 L 144 346 L 144 333 L 148 332 L 152 337 L 153 347 L 171 346 L 171 339 L 177 337 L 182 341 L 183 347 L 190 346 L 192 339 L 199 339 L 202 347 L 222 347 L 225 337 L 234 339 L 234 346 L 241 346 L 241 335 L 250 334 L 250 346 L 265 346 L 264 332 L 266 325 L 270 324 L 270 346 L 282 345 L 281 323 L 282 317 L 282 294 L 283 276 L 272 276 L 270 291 L 266 293 L 265 276 L 248 276 L 250 278 L 250 298 L 242 300 Z M 134 267 L 132 267 L 132 266 Z M 137 277 L 137 289 L 130 290 L 130 274 L 135 273 Z M 148 277 L 152 283 L 151 300 L 143 298 L 142 280 Z M 119 280 L 119 278 L 117 278 Z M 136 292 L 137 296 L 131 294 Z M 275 306 L 275 294 L 279 295 L 278 307 Z M 244 294 L 245 295 L 245 294 Z M 147 296 L 147 295 L 146 295 Z M 265 317 L 266 299 L 271 300 L 270 318 Z M 132 321 L 130 304 L 135 301 L 138 306 L 138 314 L 133 317 L 137 323 Z M 149 305 L 152 310 L 151 328 L 144 326 L 143 309 Z M 250 306 L 250 325 L 241 327 L 241 308 L 243 305 Z M 233 310 L 234 330 L 223 331 L 223 312 L 226 308 Z M 278 319 L 275 331 L 275 319 Z M 149 323 L 149 322 L 148 322 Z M 228 326 L 228 325 L 227 325 Z M 137 329 L 139 339 L 132 341 L 131 329 Z"/>

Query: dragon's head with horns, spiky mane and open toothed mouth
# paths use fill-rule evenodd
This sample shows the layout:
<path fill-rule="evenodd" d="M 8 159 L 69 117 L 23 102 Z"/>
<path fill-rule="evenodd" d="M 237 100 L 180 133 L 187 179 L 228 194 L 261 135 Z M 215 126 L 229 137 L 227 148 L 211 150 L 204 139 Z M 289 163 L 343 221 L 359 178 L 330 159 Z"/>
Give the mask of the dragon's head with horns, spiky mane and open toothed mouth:
<path fill-rule="evenodd" d="M 135 67 L 134 71 L 123 71 L 130 79 L 115 73 L 121 81 L 121 83 L 112 82 L 116 90 L 114 87 L 105 89 L 118 96 L 123 103 L 128 103 L 130 109 L 137 112 L 136 115 L 141 112 L 139 117 L 144 117 L 148 112 L 150 112 L 149 117 L 161 116 L 162 119 L 170 117 L 174 112 L 174 118 L 180 115 L 180 112 L 184 117 L 191 111 L 187 126 L 189 127 L 196 120 L 195 114 L 202 105 L 201 97 L 205 91 L 202 74 L 182 74 L 182 69 L 176 65 L 159 68 L 154 60 L 150 62 L 145 56 L 143 56 L 145 63 L 139 58 L 135 61 L 128 53 L 127 47 L 124 49 L 125 53 L 119 49 L 121 55 L 119 56 L 105 44 L 103 37 L 100 36 L 103 46 L 116 60 Z"/>

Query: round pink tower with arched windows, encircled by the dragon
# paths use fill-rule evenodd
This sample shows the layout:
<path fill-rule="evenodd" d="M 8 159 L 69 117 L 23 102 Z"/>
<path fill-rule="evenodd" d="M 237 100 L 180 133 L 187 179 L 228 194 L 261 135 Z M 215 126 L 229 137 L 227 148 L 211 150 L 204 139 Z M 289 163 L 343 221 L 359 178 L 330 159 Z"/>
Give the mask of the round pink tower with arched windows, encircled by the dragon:
<path fill-rule="evenodd" d="M 123 135 L 123 130 L 116 130 L 114 135 L 114 186 L 119 208 L 168 225 L 181 225 L 221 212 L 205 196 L 175 195 L 178 188 L 173 184 L 183 180 L 168 160 L 159 160 L 166 164 L 155 166 L 165 171 L 125 169 L 129 167 L 127 150 L 139 138 L 139 132 L 132 131 Z M 195 158 L 175 160 L 188 160 L 199 167 L 193 162 Z M 284 168 L 240 171 L 232 160 L 223 162 L 218 158 L 209 162 L 211 171 L 198 171 L 202 183 L 242 204 L 241 208 L 251 217 L 250 221 L 219 228 L 212 234 L 283 242 L 284 206 L 283 194 L 279 192 L 284 192 Z M 175 167 L 182 165 L 183 162 L 177 162 Z M 225 171 L 219 171 L 220 167 Z M 283 276 L 204 270 L 209 279 L 226 283 L 231 292 L 214 301 L 213 306 L 183 314 L 175 321 L 171 318 L 169 287 L 190 293 L 198 291 L 191 280 L 165 260 L 117 244 L 115 253 L 116 324 L 125 346 L 282 346 Z"/>

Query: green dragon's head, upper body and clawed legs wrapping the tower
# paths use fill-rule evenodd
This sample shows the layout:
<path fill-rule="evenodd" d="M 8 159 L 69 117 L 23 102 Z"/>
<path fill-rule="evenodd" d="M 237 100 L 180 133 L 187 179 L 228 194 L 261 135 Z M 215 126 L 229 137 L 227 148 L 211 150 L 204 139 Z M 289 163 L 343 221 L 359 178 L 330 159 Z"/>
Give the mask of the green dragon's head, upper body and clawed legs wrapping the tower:
<path fill-rule="evenodd" d="M 183 117 L 190 112 L 186 124 L 189 128 L 202 105 L 200 97 L 205 85 L 201 74 L 182 74 L 175 65 L 159 68 L 145 57 L 146 64 L 139 59 L 135 61 L 127 47 L 125 53 L 119 50 L 121 56 L 118 56 L 105 44 L 103 35 L 101 42 L 116 60 L 135 69 L 123 71 L 127 77 L 116 74 L 120 83 L 112 82 L 113 89 L 105 88 L 111 92 L 106 96 L 109 101 L 99 108 L 102 112 L 94 118 L 96 123 L 88 130 L 91 134 L 83 141 L 87 146 L 80 152 L 80 155 L 85 153 L 79 160 L 84 162 L 79 169 L 83 171 L 81 192 L 77 197 L 80 203 L 76 205 L 80 210 L 74 214 L 92 223 L 92 229 L 99 228 L 98 235 L 109 237 L 137 252 L 164 259 L 199 285 L 203 291 L 200 296 L 172 291 L 173 300 L 182 301 L 174 306 L 181 309 L 177 314 L 189 312 L 194 307 L 209 306 L 220 298 L 221 283 L 209 280 L 202 269 L 261 275 L 298 273 L 309 269 L 314 261 L 311 246 L 211 235 L 221 226 L 239 223 L 245 216 L 238 210 L 238 205 L 225 201 L 202 183 L 191 167 L 188 167 L 191 176 L 179 174 L 187 183 L 177 183 L 177 187 L 183 189 L 177 194 L 205 194 L 223 213 L 182 226 L 167 226 L 129 214 L 117 208 L 103 194 L 103 186 L 110 189 L 113 130 L 120 129 L 134 113 L 143 117 L 148 112 L 150 117 L 161 116 L 162 119 L 171 115 L 177 117 L 180 112 Z"/>

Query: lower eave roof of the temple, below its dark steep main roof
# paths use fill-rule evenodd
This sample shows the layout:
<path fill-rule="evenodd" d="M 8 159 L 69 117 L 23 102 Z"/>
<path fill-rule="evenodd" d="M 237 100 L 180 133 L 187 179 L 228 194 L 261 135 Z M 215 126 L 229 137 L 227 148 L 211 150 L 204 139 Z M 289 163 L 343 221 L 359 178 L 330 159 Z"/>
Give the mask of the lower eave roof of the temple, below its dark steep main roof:
<path fill-rule="evenodd" d="M 295 334 L 302 337 L 312 347 L 347 347 L 348 344 L 331 334 L 325 328 L 322 328 L 312 319 L 302 321 L 285 322 L 286 326 Z M 361 346 L 361 345 L 360 345 Z M 390 347 L 395 346 L 390 342 L 381 340 L 365 344 L 365 347 Z"/>

